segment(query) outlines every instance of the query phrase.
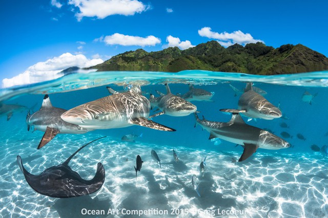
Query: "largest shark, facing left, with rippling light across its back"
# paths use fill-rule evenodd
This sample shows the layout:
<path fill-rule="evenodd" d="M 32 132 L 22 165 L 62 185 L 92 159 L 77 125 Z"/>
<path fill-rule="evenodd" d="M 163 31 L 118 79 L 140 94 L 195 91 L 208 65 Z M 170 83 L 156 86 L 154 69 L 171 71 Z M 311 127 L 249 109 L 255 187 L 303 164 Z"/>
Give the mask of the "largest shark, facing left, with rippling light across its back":
<path fill-rule="evenodd" d="M 68 123 L 88 129 L 113 129 L 139 125 L 161 131 L 175 131 L 172 128 L 148 119 L 150 102 L 141 95 L 140 86 L 134 85 L 129 91 L 119 93 L 108 87 L 112 95 L 79 105 L 61 114 Z"/>

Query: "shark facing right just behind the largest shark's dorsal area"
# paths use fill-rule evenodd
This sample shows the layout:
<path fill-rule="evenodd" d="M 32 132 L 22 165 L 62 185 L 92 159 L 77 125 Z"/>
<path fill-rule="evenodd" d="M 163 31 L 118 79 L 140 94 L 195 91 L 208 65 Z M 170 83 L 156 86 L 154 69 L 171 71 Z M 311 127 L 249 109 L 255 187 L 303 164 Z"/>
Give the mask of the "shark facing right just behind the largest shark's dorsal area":
<path fill-rule="evenodd" d="M 151 106 L 153 108 L 158 107 L 161 112 L 151 115 L 149 118 L 162 114 L 167 114 L 170 116 L 188 116 L 189 114 L 196 112 L 197 107 L 195 105 L 177 95 L 172 94 L 168 84 L 165 84 L 165 87 L 167 94 L 157 91 L 160 95 L 157 98 L 153 94 L 150 94 L 149 101 Z"/>

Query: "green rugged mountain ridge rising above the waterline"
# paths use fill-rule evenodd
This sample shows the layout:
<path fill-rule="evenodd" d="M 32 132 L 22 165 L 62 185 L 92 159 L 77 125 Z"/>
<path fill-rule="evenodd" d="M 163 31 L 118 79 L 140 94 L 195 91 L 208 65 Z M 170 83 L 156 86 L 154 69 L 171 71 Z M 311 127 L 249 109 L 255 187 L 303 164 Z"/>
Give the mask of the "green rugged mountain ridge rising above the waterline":
<path fill-rule="evenodd" d="M 150 53 L 138 49 L 116 55 L 90 68 L 98 71 L 166 72 L 202 69 L 275 75 L 328 70 L 328 59 L 301 44 L 286 44 L 274 49 L 257 42 L 245 46 L 234 44 L 225 49 L 217 41 L 209 41 L 183 51 L 178 47 Z"/>

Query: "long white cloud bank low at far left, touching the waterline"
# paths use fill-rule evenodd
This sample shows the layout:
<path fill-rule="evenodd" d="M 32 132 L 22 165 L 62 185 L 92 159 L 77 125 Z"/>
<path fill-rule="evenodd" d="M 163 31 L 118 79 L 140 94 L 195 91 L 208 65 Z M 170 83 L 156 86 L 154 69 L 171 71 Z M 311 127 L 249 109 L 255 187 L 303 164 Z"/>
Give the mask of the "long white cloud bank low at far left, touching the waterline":
<path fill-rule="evenodd" d="M 68 67 L 90 67 L 103 62 L 104 61 L 102 59 L 88 59 L 84 55 L 64 53 L 59 57 L 54 57 L 44 62 L 38 62 L 30 66 L 22 74 L 19 74 L 11 79 L 4 79 L 2 83 L 3 87 L 7 88 L 15 85 L 53 80 L 63 76 L 63 74 L 59 74 L 59 72 Z"/>

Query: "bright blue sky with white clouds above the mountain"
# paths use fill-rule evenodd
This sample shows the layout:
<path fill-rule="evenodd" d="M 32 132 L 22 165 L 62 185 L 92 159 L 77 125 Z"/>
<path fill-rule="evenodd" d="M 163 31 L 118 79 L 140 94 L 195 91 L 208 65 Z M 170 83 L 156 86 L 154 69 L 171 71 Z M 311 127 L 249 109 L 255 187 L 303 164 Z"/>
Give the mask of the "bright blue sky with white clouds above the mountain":
<path fill-rule="evenodd" d="M 209 40 L 301 43 L 328 56 L 327 8 L 327 1 L 2 1 L 0 81 L 40 70 L 54 75 L 70 65 L 65 60 L 84 66 L 139 48 Z"/>

